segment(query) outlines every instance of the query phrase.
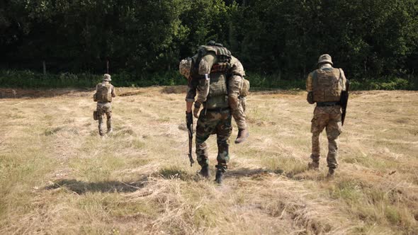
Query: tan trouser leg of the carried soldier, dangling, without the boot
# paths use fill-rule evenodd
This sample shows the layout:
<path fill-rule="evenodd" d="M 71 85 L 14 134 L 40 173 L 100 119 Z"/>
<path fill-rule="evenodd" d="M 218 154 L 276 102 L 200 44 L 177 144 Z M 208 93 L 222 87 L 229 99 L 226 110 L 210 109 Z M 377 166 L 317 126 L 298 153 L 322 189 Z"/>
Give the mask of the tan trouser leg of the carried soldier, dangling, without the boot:
<path fill-rule="evenodd" d="M 247 129 L 247 122 L 245 116 L 245 97 L 240 96 L 239 91 L 242 89 L 243 80 L 241 76 L 231 76 L 228 79 L 228 101 L 230 103 L 232 117 L 239 130 Z"/>

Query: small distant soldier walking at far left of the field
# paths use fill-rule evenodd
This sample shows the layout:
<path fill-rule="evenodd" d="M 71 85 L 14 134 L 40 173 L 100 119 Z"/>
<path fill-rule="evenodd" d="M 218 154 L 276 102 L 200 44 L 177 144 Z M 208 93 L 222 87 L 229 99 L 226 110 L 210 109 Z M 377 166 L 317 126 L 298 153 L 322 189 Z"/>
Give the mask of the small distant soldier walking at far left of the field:
<path fill-rule="evenodd" d="M 115 87 L 110 83 L 111 75 L 104 74 L 103 81 L 96 85 L 96 93 L 94 101 L 97 102 L 96 119 L 98 120 L 98 134 L 104 136 L 103 132 L 103 115 L 106 115 L 108 127 L 107 134 L 111 134 L 112 129 L 112 99 L 116 96 Z"/>

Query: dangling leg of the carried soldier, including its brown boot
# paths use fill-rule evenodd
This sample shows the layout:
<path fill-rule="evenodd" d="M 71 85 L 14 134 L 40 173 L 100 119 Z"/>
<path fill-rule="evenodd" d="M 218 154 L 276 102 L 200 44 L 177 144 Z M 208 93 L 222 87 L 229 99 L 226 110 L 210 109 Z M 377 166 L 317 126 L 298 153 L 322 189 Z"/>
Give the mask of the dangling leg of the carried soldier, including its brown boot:
<path fill-rule="evenodd" d="M 228 101 L 231 108 L 232 117 L 234 117 L 235 122 L 238 126 L 238 137 L 235 140 L 236 144 L 244 142 L 248 137 L 248 128 L 247 122 L 245 121 L 244 108 L 240 105 L 239 101 L 239 91 L 242 89 L 243 79 L 241 76 L 232 76 L 228 80 L 229 90 L 228 90 Z"/>

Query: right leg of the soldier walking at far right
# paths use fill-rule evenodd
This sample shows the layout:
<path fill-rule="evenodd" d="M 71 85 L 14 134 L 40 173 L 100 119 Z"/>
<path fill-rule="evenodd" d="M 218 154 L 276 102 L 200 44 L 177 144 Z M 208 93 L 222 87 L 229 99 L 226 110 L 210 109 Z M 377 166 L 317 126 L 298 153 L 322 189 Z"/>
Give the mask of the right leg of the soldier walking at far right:
<path fill-rule="evenodd" d="M 341 112 L 339 108 L 330 114 L 326 131 L 328 139 L 327 164 L 329 168 L 334 169 L 338 167 L 338 137 L 341 134 Z"/>

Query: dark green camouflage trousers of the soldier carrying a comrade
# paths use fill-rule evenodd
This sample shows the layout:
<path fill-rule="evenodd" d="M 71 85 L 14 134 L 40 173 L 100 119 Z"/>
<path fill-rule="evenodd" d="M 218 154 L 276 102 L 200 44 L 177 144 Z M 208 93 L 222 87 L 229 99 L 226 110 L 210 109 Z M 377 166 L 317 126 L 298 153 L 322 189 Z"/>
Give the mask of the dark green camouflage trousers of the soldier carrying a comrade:
<path fill-rule="evenodd" d="M 218 165 L 220 171 L 226 171 L 230 161 L 229 147 L 232 133 L 230 110 L 208 111 L 201 110 L 196 127 L 196 156 L 200 166 L 209 164 L 208 144 L 206 140 L 211 134 L 216 134 L 218 144 Z"/>

